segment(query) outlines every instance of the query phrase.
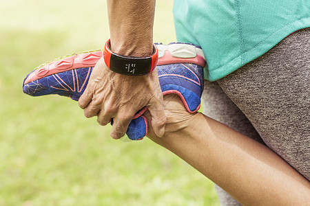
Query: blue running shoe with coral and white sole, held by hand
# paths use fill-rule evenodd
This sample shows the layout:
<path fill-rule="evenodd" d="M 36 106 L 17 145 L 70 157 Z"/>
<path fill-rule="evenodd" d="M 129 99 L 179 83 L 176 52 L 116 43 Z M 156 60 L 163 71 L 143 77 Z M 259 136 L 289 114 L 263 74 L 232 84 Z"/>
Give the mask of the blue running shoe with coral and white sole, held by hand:
<path fill-rule="evenodd" d="M 205 57 L 200 47 L 185 43 L 156 44 L 158 48 L 157 71 L 163 95 L 178 95 L 189 113 L 200 108 L 203 93 L 203 67 Z M 79 100 L 103 51 L 72 54 L 45 63 L 34 69 L 23 81 L 23 92 L 32 95 L 58 94 Z M 136 113 L 127 129 L 132 140 L 147 135 L 147 120 L 143 108 Z M 112 119 L 113 123 L 113 119 Z"/>

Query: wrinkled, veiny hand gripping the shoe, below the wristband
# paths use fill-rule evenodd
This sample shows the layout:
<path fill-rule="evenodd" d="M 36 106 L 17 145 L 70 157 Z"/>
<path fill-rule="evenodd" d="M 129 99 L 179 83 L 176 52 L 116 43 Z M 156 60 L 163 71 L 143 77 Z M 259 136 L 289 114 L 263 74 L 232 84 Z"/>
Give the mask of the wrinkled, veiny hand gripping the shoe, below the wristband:
<path fill-rule="evenodd" d="M 154 133 L 158 137 L 165 133 L 166 117 L 157 69 L 145 76 L 125 76 L 108 69 L 101 58 L 79 99 L 79 106 L 84 109 L 85 117 L 97 115 L 101 125 L 113 118 L 110 135 L 114 139 L 125 135 L 132 118 L 144 106 L 149 109 Z"/>

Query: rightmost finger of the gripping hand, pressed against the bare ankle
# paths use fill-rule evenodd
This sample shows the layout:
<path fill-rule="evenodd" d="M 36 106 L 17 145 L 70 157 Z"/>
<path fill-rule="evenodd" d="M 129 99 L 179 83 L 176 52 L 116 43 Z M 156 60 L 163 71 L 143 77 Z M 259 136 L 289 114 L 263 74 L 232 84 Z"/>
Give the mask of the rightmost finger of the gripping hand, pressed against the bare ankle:
<path fill-rule="evenodd" d="M 151 113 L 151 124 L 154 130 L 154 133 L 158 137 L 163 137 L 165 135 L 165 125 L 167 118 L 165 116 L 164 106 L 156 99 L 150 100 L 150 103 L 147 105 L 149 113 Z"/>

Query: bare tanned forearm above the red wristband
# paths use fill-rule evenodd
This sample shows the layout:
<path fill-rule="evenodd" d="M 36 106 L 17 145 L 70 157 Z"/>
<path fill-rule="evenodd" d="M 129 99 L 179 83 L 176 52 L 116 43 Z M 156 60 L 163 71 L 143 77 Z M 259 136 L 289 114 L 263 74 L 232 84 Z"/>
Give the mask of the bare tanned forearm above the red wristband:
<path fill-rule="evenodd" d="M 108 0 L 111 49 L 126 56 L 150 56 L 155 0 Z"/>

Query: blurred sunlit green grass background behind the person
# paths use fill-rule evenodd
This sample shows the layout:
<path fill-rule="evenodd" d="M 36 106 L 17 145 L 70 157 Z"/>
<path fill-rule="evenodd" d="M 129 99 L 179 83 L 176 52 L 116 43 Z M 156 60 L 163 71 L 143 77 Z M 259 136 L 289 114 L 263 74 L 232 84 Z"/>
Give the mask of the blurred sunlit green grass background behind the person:
<path fill-rule="evenodd" d="M 176 41 L 172 1 L 157 1 L 154 41 Z M 106 2 L 0 0 L 0 205 L 218 205 L 213 183 L 171 152 L 114 140 L 77 102 L 23 94 L 41 63 L 101 49 Z"/>

